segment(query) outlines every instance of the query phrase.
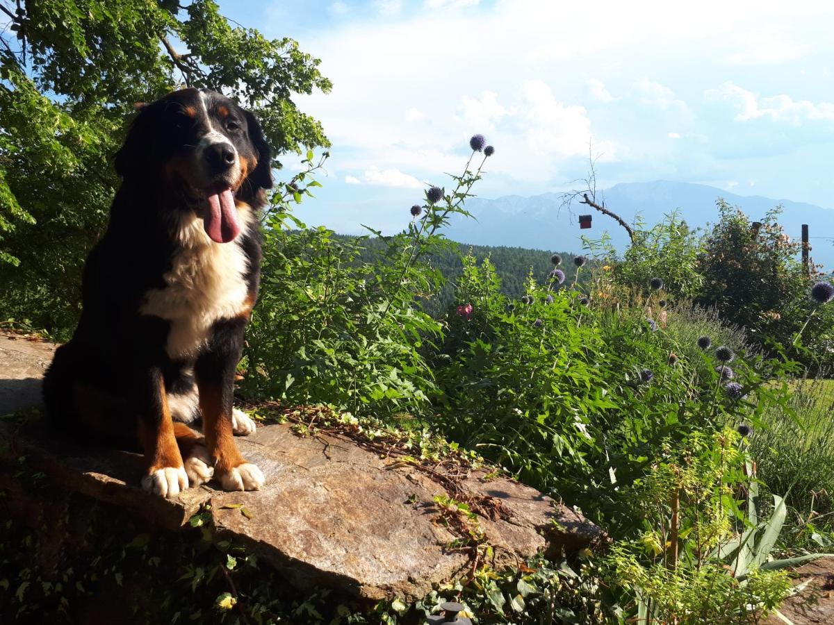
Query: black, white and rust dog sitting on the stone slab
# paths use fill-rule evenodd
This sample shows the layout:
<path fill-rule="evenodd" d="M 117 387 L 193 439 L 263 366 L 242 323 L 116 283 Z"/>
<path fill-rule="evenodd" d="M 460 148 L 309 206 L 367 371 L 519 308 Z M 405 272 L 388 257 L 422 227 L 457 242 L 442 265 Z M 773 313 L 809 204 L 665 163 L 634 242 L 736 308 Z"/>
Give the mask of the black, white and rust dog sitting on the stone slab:
<path fill-rule="evenodd" d="M 269 146 L 251 112 L 183 89 L 138 105 L 115 157 L 122 178 L 89 253 L 83 309 L 43 381 L 51 422 L 73 438 L 141 451 L 142 487 L 173 498 L 214 478 L 259 490 L 233 434 L 244 330 L 258 297 L 259 210 Z M 203 420 L 203 435 L 189 428 Z"/>

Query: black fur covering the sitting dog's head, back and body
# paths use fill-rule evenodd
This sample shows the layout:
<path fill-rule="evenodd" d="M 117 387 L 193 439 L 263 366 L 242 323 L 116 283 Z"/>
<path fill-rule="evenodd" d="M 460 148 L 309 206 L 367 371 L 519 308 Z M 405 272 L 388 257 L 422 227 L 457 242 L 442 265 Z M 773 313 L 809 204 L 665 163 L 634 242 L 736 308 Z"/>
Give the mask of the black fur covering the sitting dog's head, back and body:
<path fill-rule="evenodd" d="M 249 173 L 235 198 L 249 204 L 254 223 L 231 243 L 212 244 L 243 250 L 249 308 L 254 303 L 261 258 L 257 212 L 264 189 L 272 187 L 269 146 L 254 115 L 229 98 L 195 89 L 173 92 L 141 108 L 116 154 L 123 182 L 107 231 L 84 268 L 81 319 L 44 378 L 48 417 L 75 438 L 136 448 L 140 426 L 157 427 L 163 418 L 160 389 L 187 393 L 195 378 L 201 388 L 216 387 L 224 414 L 231 411 L 248 316 L 217 319 L 193 356 L 172 358 L 166 351 L 171 323 L 141 312 L 148 292 L 166 286 L 164 276 L 180 250 L 180 218 L 206 210 L 203 178 L 188 172 L 201 167 L 195 154 L 210 130 L 247 161 Z"/>

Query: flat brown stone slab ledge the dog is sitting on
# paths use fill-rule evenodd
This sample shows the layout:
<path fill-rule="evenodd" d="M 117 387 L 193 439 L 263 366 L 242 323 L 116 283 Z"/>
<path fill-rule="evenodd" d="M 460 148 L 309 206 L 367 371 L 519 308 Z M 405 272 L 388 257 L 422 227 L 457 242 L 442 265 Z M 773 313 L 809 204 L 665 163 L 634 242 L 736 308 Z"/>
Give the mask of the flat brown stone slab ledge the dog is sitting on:
<path fill-rule="evenodd" d="M 19 349 L 0 350 L 0 378 L 7 378 L 0 379 L 0 388 L 16 379 L 37 381 L 52 346 L 32 345 L 38 347 L 28 356 Z M 8 377 L 7 359 L 18 363 L 17 378 Z M 38 393 L 26 397 L 37 399 Z M 25 405 L 13 399 L 0 403 L 0 414 Z M 450 546 L 460 532 L 445 527 L 435 503 L 436 495 L 447 494 L 445 488 L 429 474 L 380 458 L 349 438 L 301 438 L 288 424 L 258 428 L 238 443 L 244 457 L 264 471 L 262 491 L 224 493 L 203 486 L 171 500 L 138 488 L 142 463 L 136 454 L 75 448 L 53 438 L 43 423 L 19 427 L 0 421 L 0 438 L 54 483 L 165 527 L 182 527 L 210 504 L 219 532 L 249 543 L 298 587 L 334 587 L 374 600 L 415 599 L 471 567 L 471 550 Z M 575 551 L 603 537 L 569 508 L 509 479 L 473 472 L 460 489 L 486 496 L 500 510 L 477 519 L 494 547 L 495 567 L 515 565 L 536 552 Z"/>

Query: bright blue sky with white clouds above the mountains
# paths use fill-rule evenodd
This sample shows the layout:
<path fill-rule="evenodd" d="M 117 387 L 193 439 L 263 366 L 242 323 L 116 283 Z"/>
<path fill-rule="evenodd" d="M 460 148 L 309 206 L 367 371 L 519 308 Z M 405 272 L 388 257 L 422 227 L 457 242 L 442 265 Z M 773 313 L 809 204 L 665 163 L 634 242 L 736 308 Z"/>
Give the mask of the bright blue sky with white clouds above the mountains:
<path fill-rule="evenodd" d="M 221 0 L 293 37 L 328 94 L 295 98 L 333 143 L 309 225 L 393 232 L 469 138 L 495 146 L 475 193 L 657 179 L 834 208 L 834 3 Z M 289 178 L 295 158 L 283 159 Z"/>

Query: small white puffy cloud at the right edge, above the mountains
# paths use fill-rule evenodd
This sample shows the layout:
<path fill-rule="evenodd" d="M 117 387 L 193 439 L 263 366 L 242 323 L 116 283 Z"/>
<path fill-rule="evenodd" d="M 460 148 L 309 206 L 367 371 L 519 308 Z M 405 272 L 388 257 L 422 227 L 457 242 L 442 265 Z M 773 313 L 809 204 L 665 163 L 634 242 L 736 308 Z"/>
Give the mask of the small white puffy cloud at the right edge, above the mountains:
<path fill-rule="evenodd" d="M 834 121 L 832 102 L 794 100 L 785 94 L 760 97 L 757 93 L 739 87 L 733 82 L 724 82 L 716 89 L 708 89 L 704 96 L 707 101 L 729 103 L 736 112 L 736 122 L 765 118 L 771 122 L 801 126 L 802 122 L 806 121 Z"/>

